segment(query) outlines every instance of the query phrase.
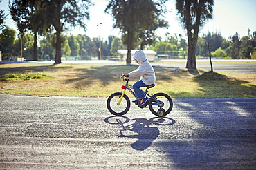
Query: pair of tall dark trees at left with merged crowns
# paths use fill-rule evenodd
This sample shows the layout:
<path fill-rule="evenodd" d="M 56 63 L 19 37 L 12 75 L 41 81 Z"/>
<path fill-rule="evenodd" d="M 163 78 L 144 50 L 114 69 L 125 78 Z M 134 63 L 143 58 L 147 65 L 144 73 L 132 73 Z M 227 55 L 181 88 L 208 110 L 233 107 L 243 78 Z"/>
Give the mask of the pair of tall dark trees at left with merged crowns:
<path fill-rule="evenodd" d="M 85 29 L 83 20 L 89 19 L 89 6 L 91 1 L 86 0 L 12 0 L 9 3 L 10 14 L 17 23 L 21 39 L 26 32 L 33 33 L 34 60 L 37 60 L 37 36 L 55 35 L 55 64 L 61 63 L 62 43 L 64 43 L 62 32 L 68 27 L 77 25 Z"/>

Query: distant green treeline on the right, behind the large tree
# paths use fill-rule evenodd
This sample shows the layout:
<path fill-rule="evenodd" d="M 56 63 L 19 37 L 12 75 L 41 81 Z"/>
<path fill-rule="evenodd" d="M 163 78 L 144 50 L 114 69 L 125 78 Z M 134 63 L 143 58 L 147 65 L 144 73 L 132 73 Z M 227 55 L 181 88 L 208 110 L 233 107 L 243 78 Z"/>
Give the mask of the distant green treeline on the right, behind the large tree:
<path fill-rule="evenodd" d="M 155 41 L 149 46 L 150 50 L 161 52 L 174 52 L 176 56 L 184 56 L 188 53 L 188 43 L 181 34 L 167 36 L 166 41 Z M 210 50 L 210 51 L 209 51 Z M 236 32 L 228 39 L 221 36 L 221 32 L 208 32 L 198 37 L 196 56 L 214 56 L 226 59 L 256 59 L 256 31 L 240 38 Z"/>

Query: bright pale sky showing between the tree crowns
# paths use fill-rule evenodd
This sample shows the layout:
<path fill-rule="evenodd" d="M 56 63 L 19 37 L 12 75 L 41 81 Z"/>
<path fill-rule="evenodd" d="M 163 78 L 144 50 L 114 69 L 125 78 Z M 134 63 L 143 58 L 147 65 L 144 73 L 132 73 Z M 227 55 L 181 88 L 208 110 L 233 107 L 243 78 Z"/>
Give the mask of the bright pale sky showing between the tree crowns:
<path fill-rule="evenodd" d="M 91 17 L 89 20 L 84 19 L 84 23 L 87 25 L 86 32 L 82 28 L 77 27 L 65 34 L 86 34 L 91 38 L 100 36 L 104 40 L 107 40 L 109 35 L 120 37 L 120 31 L 117 28 L 113 28 L 113 17 L 110 14 L 104 13 L 108 1 L 91 1 L 94 3 L 94 6 L 89 8 Z M 156 34 L 163 39 L 165 39 L 166 32 L 172 36 L 174 34 L 182 34 L 186 38 L 185 30 L 181 27 L 176 15 L 175 0 L 167 1 L 165 5 L 169 11 L 165 14 L 165 20 L 169 22 L 170 26 L 169 28 L 159 28 L 156 30 Z M 2 0 L 0 8 L 8 14 L 6 25 L 16 30 L 15 23 L 10 19 L 8 0 Z M 225 39 L 233 36 L 236 32 L 238 32 L 240 38 L 247 36 L 248 28 L 250 28 L 251 34 L 256 31 L 256 0 L 215 0 L 213 17 L 214 19 L 208 21 L 201 28 L 199 36 L 207 32 L 221 32 Z"/>

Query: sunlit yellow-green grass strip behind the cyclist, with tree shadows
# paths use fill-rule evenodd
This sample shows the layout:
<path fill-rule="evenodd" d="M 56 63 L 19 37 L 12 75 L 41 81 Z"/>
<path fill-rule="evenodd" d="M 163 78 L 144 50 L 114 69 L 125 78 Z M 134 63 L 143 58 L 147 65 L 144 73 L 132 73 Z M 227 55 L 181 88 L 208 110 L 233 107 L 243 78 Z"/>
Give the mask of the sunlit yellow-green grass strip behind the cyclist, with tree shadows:
<path fill-rule="evenodd" d="M 120 74 L 138 65 L 120 63 L 10 63 L 0 65 L 0 94 L 107 97 L 120 92 Z M 154 67 L 156 86 L 172 98 L 256 98 L 256 74 Z M 138 78 L 129 78 L 134 83 Z M 128 94 L 128 93 L 127 93 Z"/>

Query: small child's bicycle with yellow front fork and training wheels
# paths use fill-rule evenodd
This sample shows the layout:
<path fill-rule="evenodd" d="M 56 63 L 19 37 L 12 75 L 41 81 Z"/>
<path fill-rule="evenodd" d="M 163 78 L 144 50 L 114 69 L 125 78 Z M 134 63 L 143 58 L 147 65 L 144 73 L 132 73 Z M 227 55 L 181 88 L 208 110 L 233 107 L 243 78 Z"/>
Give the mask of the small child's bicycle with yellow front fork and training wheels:
<path fill-rule="evenodd" d="M 125 94 L 127 89 L 136 98 L 137 102 L 135 104 L 141 109 L 147 107 L 148 105 L 149 110 L 156 116 L 163 117 L 170 114 L 173 107 L 172 98 L 170 96 L 165 93 L 156 93 L 154 95 L 148 94 L 148 90 L 153 88 L 155 86 L 154 84 L 147 85 L 146 90 L 142 90 L 143 93 L 149 97 L 149 100 L 144 105 L 140 105 L 138 96 L 136 96 L 134 93 L 132 86 L 129 85 L 129 79 L 125 76 L 121 76 L 120 78 L 121 80 L 126 81 L 125 85 L 121 86 L 122 92 L 113 93 L 109 96 L 109 98 L 107 98 L 107 109 L 111 114 L 122 116 L 129 111 L 131 102 L 129 97 Z"/>

